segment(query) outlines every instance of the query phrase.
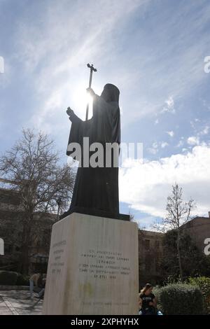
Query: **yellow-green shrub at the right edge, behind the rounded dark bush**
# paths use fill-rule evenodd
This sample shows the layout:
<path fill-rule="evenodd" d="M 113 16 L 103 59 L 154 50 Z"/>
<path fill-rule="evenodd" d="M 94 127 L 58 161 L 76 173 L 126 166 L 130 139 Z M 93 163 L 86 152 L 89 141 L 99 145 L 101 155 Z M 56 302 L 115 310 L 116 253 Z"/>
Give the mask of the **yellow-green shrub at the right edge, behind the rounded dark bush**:
<path fill-rule="evenodd" d="M 193 286 L 199 286 L 202 295 L 204 296 L 206 311 L 210 314 L 210 278 L 205 276 L 188 278 L 188 282 Z"/>

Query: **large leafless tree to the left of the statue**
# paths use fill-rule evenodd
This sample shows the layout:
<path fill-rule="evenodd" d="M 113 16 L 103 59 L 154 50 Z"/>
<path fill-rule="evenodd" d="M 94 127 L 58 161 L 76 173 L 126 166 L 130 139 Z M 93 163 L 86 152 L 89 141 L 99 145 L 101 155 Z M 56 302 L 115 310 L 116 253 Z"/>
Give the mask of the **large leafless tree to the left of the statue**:
<path fill-rule="evenodd" d="M 34 213 L 57 214 L 58 199 L 62 200 L 59 209 L 69 207 L 75 174 L 58 162 L 54 142 L 47 135 L 29 129 L 22 130 L 20 141 L 0 158 L 1 176 L 15 182 L 13 190 L 18 191 L 21 199 L 22 216 L 18 225 L 24 272 L 27 272 L 32 242 L 38 239 L 37 232 L 44 230 L 41 221 L 34 220 Z"/>

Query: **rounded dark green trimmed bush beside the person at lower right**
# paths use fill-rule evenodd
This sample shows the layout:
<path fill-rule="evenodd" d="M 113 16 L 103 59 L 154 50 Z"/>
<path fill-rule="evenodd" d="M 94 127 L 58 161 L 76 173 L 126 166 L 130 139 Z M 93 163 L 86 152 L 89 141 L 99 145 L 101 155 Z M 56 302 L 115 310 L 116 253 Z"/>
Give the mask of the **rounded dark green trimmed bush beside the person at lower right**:
<path fill-rule="evenodd" d="M 184 283 L 169 284 L 160 288 L 157 297 L 160 309 L 165 315 L 204 314 L 204 298 L 198 286 Z"/>

